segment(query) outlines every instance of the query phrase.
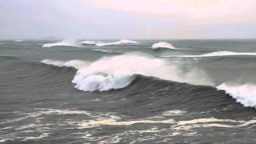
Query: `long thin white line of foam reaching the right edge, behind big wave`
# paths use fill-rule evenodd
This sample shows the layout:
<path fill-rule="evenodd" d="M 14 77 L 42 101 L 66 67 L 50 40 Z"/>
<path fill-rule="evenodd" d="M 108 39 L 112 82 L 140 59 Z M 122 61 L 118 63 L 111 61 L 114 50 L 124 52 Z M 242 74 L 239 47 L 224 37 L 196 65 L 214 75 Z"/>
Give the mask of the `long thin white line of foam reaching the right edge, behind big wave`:
<path fill-rule="evenodd" d="M 232 56 L 232 55 L 256 55 L 256 53 L 238 53 L 231 51 L 216 51 L 207 54 L 200 55 L 172 55 L 172 56 L 161 56 L 162 58 L 168 57 L 185 57 L 185 58 L 195 58 L 195 57 L 222 57 L 222 56 Z"/>

